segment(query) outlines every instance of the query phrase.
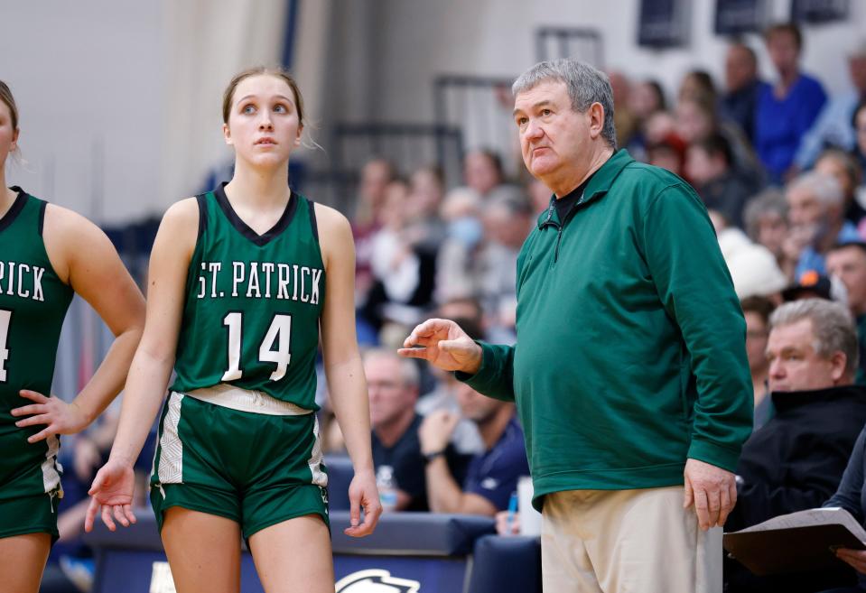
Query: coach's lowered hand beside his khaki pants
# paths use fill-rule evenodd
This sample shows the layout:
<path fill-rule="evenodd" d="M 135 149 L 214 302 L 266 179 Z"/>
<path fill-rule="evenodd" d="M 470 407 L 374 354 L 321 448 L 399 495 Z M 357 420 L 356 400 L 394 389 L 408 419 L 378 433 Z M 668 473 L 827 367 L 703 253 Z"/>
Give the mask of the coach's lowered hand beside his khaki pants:
<path fill-rule="evenodd" d="M 728 514 L 737 503 L 737 485 L 734 475 L 697 459 L 685 461 L 685 496 L 683 508 L 694 505 L 698 524 L 706 531 L 724 525 Z"/>

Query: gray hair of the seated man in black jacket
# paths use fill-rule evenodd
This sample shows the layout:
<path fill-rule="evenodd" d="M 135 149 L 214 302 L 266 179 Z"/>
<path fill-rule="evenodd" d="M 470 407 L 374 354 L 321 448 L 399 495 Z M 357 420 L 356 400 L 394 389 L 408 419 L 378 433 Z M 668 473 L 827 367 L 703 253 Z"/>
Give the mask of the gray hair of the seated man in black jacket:
<path fill-rule="evenodd" d="M 812 321 L 815 342 L 812 347 L 819 357 L 829 358 L 836 352 L 845 355 L 845 375 L 857 371 L 857 329 L 851 312 L 838 302 L 824 299 L 803 299 L 787 302 L 769 316 L 770 331 L 800 320 Z"/>

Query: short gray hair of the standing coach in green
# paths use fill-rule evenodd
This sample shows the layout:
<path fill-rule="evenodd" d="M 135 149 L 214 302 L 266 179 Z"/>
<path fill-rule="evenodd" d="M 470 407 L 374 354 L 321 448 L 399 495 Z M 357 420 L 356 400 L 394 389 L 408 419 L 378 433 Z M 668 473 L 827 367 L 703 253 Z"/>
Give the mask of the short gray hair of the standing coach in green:
<path fill-rule="evenodd" d="M 617 150 L 617 128 L 613 125 L 613 89 L 610 88 L 608 75 L 570 58 L 542 61 L 517 77 L 511 92 L 517 97 L 519 93 L 549 80 L 565 83 L 568 96 L 572 99 L 572 108 L 578 113 L 586 113 L 593 103 L 601 104 L 604 109 L 601 137 L 614 151 Z"/>

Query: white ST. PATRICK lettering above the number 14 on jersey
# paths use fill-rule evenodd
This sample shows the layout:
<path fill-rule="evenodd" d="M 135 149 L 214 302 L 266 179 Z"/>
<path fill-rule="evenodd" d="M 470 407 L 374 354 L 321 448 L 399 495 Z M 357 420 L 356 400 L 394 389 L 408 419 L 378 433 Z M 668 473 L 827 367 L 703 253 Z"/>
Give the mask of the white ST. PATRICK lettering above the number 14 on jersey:
<path fill-rule="evenodd" d="M 319 268 L 274 262 L 232 262 L 231 270 L 224 270 L 222 264 L 201 262 L 197 299 L 221 299 L 230 296 L 319 304 Z"/>

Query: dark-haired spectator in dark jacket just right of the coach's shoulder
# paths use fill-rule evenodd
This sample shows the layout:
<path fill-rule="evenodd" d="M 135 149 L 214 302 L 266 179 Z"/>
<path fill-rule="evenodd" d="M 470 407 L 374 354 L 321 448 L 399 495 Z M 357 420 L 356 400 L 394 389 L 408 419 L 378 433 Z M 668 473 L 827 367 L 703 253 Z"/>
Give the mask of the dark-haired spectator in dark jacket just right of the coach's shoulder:
<path fill-rule="evenodd" d="M 731 144 L 722 134 L 710 134 L 689 146 L 685 175 L 707 208 L 718 210 L 733 225 L 742 228 L 742 211 L 751 188 L 733 169 Z"/>

